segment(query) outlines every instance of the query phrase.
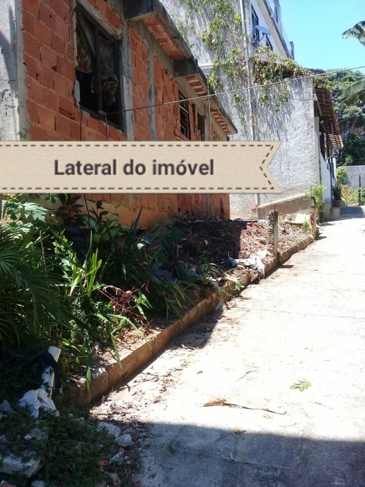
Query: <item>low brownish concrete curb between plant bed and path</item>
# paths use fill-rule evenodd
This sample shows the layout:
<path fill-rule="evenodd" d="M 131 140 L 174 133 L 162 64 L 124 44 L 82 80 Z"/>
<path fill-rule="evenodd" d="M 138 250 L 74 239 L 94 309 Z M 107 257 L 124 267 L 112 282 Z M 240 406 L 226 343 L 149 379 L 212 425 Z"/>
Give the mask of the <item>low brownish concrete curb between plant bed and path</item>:
<path fill-rule="evenodd" d="M 272 257 L 265 264 L 265 274 L 272 272 L 278 264 L 286 262 L 293 254 L 305 249 L 313 241 L 314 238 L 309 235 L 297 245 L 290 247 L 290 249 L 284 252 L 279 251 L 277 261 Z M 255 279 L 251 280 L 250 274 L 247 273 L 242 277 L 241 283 L 246 287 L 254 280 Z M 134 350 L 126 351 L 124 356 L 121 353 L 122 368 L 120 368 L 118 362 L 109 364 L 106 367 L 101 367 L 98 373 L 92 377 L 90 394 L 88 393 L 85 384 L 72 384 L 64 390 L 63 396 L 56 400 L 56 404 L 62 403 L 85 406 L 90 401 L 106 394 L 113 389 L 118 382 L 126 380 L 140 367 L 161 352 L 173 338 L 190 328 L 203 316 L 219 309 L 223 304 L 222 296 L 231 298 L 240 294 L 241 291 L 235 289 L 235 284 L 234 281 L 228 281 L 220 291 L 212 291 L 209 297 L 202 299 L 180 319 L 174 321 L 162 330 L 154 330 L 150 336 L 148 336 L 149 343 L 142 341 L 141 343 L 136 344 Z"/>

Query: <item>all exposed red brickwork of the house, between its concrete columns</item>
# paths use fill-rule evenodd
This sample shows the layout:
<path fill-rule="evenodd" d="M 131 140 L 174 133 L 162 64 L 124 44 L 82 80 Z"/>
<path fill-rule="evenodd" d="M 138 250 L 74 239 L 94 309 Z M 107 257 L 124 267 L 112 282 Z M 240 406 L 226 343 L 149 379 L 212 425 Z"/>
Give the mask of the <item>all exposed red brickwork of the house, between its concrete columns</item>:
<path fill-rule="evenodd" d="M 72 95 L 75 83 L 74 45 L 72 32 L 72 0 L 22 0 L 23 40 L 27 112 L 30 139 L 33 141 L 105 141 L 106 124 L 85 110 L 75 107 Z M 121 19 L 105 0 L 89 0 L 101 15 L 116 28 Z M 149 45 L 133 29 L 129 29 L 132 69 L 133 107 L 147 106 L 149 84 Z M 163 64 L 154 58 L 155 103 L 178 99 L 178 86 L 167 75 Z M 191 137 L 196 139 L 197 112 L 189 102 Z M 180 131 L 179 107 L 171 103 L 156 107 L 156 132 L 160 141 L 186 140 Z M 136 141 L 151 140 L 150 111 L 134 111 Z M 212 139 L 221 140 L 212 126 Z M 109 125 L 109 140 L 124 141 L 121 130 Z M 139 194 L 133 196 L 99 194 L 87 195 L 102 199 L 117 211 L 124 222 L 133 220 L 143 206 L 141 224 L 151 226 L 166 219 L 184 215 L 206 214 L 204 194 Z M 116 210 L 115 205 L 123 200 Z M 228 218 L 228 195 L 210 196 L 211 216 Z"/>

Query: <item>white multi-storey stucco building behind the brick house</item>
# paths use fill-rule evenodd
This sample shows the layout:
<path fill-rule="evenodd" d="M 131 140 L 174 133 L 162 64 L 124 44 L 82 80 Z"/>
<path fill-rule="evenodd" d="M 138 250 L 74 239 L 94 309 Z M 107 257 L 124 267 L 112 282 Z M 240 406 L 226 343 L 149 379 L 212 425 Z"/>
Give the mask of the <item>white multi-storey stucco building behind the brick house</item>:
<path fill-rule="evenodd" d="M 230 8 L 241 19 L 232 31 L 235 19 L 227 20 L 223 32 L 214 31 L 213 41 L 207 43 L 207 30 L 216 22 L 216 12 L 212 6 L 194 11 L 181 0 L 162 0 L 174 22 L 184 32 L 194 56 L 200 66 L 222 66 L 230 54 L 240 52 L 250 66 L 250 56 L 260 46 L 286 58 L 294 58 L 294 43 L 285 32 L 279 0 L 232 0 Z M 203 3 L 201 3 L 203 5 Z M 224 22 L 221 22 L 224 24 Z M 240 30 L 240 32 L 236 32 Z M 245 39 L 247 41 L 245 42 Z M 221 57 L 217 51 L 221 50 Z M 224 53 L 222 52 L 224 51 Z M 244 69 L 242 68 L 242 72 Z M 209 73 L 209 69 L 208 69 Z M 250 77 L 240 76 L 229 79 L 224 67 L 220 68 L 222 86 L 218 91 L 249 88 Z M 210 76 L 212 76 L 210 74 Z M 270 172 L 282 190 L 281 194 L 234 194 L 231 195 L 231 218 L 255 219 L 265 215 L 271 208 L 284 213 L 304 210 L 308 204 L 304 198 L 311 188 L 323 184 L 327 189 L 324 202 L 331 203 L 333 185 L 333 147 L 341 146 L 341 136 L 334 113 L 331 94 L 328 90 L 317 92 L 312 81 L 298 79 L 291 81 L 293 73 L 285 73 L 288 79 L 287 102 L 277 110 L 276 99 L 280 88 L 269 87 L 269 97 L 261 101 L 262 89 L 251 87 L 243 92 L 239 101 L 233 95 L 221 96 L 220 100 L 230 115 L 238 133 L 231 140 L 281 141 L 281 147 L 270 163 Z M 260 91 L 261 90 L 261 91 Z M 241 95 L 242 92 L 237 92 Z"/>

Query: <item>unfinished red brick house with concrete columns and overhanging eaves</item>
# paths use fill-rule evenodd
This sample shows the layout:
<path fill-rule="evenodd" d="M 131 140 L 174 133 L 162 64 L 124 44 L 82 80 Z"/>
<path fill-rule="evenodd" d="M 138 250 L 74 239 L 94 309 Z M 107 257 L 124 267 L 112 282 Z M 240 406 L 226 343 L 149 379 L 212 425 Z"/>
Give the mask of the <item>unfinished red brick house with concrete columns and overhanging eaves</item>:
<path fill-rule="evenodd" d="M 225 141 L 236 133 L 217 99 L 210 114 L 199 99 L 207 80 L 159 0 L 2 0 L 0 51 L 2 141 Z M 226 194 L 87 197 L 124 222 L 143 206 L 143 225 L 229 217 Z"/>

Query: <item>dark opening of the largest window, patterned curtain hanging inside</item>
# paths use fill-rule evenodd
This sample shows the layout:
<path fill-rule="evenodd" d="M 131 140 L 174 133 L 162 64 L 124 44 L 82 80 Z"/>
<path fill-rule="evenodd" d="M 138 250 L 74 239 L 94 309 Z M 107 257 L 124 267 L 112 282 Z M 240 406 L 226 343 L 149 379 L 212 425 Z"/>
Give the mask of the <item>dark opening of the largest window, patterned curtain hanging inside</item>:
<path fill-rule="evenodd" d="M 108 122 L 122 127 L 118 42 L 101 31 L 92 18 L 76 12 L 77 68 L 80 105 L 98 114 L 110 114 Z M 102 118 L 104 116 L 101 115 Z"/>

